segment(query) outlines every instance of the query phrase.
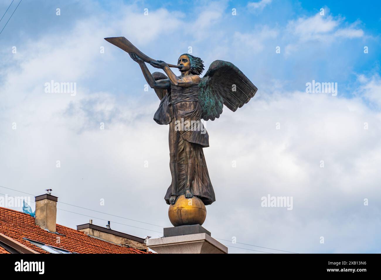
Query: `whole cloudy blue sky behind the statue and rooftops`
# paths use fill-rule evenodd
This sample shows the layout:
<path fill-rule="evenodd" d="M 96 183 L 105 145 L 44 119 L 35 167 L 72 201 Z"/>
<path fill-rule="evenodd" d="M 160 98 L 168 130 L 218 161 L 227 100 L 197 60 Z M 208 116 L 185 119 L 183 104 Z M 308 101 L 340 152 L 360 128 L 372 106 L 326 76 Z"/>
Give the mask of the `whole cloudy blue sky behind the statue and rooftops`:
<path fill-rule="evenodd" d="M 10 3 L 0 0 L 1 16 Z M 0 35 L 0 186 L 36 195 L 52 188 L 59 201 L 170 226 L 168 127 L 152 120 L 158 99 L 144 91 L 138 65 L 103 38 L 124 36 L 172 64 L 191 46 L 206 69 L 230 61 L 258 87 L 247 105 L 205 123 L 212 236 L 299 253 L 379 253 L 379 10 L 377 1 L 22 0 Z M 51 80 L 76 83 L 76 95 L 45 93 Z M 337 83 L 337 96 L 307 93 L 312 80 Z M 292 196 L 293 210 L 261 207 L 267 194 Z M 129 234 L 160 235 L 95 216 L 102 226 L 147 228 L 112 223 Z M 88 219 L 58 212 L 73 228 Z"/>

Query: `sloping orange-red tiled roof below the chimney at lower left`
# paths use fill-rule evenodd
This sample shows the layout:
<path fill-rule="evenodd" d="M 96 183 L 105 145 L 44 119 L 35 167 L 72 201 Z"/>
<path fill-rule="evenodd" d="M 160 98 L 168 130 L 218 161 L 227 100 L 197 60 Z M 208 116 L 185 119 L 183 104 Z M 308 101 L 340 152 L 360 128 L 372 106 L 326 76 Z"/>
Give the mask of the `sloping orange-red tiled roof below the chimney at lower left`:
<path fill-rule="evenodd" d="M 54 234 L 41 229 L 35 224 L 34 218 L 28 214 L 0 207 L 0 233 L 26 245 L 30 249 L 39 253 L 48 253 L 45 250 L 33 245 L 28 240 L 31 239 L 46 245 L 62 248 L 75 253 L 87 254 L 146 254 L 134 248 L 122 247 L 104 240 L 96 239 L 83 232 L 66 226 L 56 225 Z M 5 250 L 5 249 L 4 249 Z M 2 248 L 0 247 L 0 253 Z"/>

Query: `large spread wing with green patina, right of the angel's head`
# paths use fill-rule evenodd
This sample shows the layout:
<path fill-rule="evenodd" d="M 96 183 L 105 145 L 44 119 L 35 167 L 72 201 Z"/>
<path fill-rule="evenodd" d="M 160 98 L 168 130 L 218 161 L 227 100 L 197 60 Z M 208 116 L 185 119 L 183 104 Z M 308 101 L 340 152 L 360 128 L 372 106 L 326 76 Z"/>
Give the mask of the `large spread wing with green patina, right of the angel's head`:
<path fill-rule="evenodd" d="M 235 112 L 257 92 L 257 87 L 231 62 L 215 60 L 199 84 L 202 118 L 219 118 L 223 104 Z"/>

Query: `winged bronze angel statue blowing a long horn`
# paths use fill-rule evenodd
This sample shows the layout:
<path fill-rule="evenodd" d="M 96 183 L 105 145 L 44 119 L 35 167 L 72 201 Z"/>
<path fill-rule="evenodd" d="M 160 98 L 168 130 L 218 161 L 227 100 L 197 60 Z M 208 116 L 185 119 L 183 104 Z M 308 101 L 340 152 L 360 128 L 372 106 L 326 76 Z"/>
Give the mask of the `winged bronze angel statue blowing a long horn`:
<path fill-rule="evenodd" d="M 199 197 L 205 205 L 215 202 L 203 148 L 209 146 L 209 135 L 201 119 L 219 118 L 223 105 L 232 111 L 242 107 L 257 91 L 256 86 L 231 62 L 214 61 L 203 78 L 203 61 L 182 54 L 177 65 L 147 57 L 124 37 L 105 38 L 129 52 L 138 62 L 144 78 L 160 99 L 154 115 L 158 124 L 169 124 L 170 170 L 172 181 L 166 194 L 167 204 L 185 195 Z M 146 62 L 162 72 L 150 73 Z M 170 67 L 179 68 L 175 75 Z M 185 124 L 185 125 L 183 125 Z M 193 124 L 193 125 L 192 125 Z"/>

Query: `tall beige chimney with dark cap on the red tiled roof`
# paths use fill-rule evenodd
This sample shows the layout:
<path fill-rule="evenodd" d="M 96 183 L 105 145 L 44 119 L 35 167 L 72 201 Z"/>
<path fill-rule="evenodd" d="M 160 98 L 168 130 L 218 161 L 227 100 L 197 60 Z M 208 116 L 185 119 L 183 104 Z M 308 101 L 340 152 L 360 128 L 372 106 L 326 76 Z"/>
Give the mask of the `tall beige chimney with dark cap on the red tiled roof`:
<path fill-rule="evenodd" d="M 35 223 L 42 229 L 56 232 L 58 197 L 51 195 L 51 189 L 46 194 L 35 197 L 36 216 Z"/>

